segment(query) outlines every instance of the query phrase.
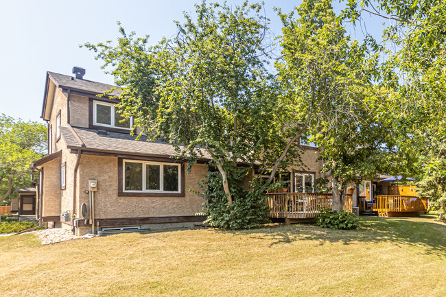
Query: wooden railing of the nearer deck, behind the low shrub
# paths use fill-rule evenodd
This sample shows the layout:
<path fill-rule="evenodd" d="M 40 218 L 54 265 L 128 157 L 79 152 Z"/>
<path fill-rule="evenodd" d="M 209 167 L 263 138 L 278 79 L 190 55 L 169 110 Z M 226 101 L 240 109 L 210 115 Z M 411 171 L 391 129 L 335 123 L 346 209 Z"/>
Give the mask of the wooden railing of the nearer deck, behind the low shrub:
<path fill-rule="evenodd" d="M 269 217 L 303 219 L 316 217 L 322 208 L 333 209 L 331 193 L 268 193 L 266 199 L 270 206 Z M 352 206 L 352 195 L 347 194 L 342 209 L 351 211 Z"/>

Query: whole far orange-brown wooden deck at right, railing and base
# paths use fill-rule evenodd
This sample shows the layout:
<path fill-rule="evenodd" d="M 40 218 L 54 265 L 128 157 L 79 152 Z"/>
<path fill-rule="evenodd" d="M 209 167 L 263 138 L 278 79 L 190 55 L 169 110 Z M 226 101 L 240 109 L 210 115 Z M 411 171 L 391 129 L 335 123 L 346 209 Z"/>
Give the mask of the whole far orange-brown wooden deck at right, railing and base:
<path fill-rule="evenodd" d="M 427 199 L 408 195 L 379 195 L 373 211 L 384 217 L 418 216 L 421 211 L 427 211 Z"/>

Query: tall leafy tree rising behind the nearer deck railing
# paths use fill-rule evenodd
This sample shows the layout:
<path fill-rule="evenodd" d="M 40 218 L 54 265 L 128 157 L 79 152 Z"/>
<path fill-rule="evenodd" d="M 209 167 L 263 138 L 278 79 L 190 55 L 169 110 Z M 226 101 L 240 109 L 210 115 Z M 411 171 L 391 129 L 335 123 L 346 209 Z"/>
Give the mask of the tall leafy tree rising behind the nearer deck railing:
<path fill-rule="evenodd" d="M 333 209 L 342 209 L 337 189 L 355 175 L 376 175 L 377 156 L 390 153 L 385 126 L 375 118 L 381 97 L 373 86 L 377 57 L 369 41 L 360 45 L 346 34 L 329 0 L 307 0 L 294 13 L 281 14 L 283 47 L 277 62 L 287 106 L 288 143 L 309 137 L 320 146 L 333 188 Z"/>

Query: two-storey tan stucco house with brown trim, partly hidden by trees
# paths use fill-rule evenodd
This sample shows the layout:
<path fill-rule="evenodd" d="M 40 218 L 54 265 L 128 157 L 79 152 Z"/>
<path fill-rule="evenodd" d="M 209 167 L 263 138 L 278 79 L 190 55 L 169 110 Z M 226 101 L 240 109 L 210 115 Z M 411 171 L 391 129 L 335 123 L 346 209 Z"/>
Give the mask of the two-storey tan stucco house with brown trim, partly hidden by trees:
<path fill-rule="evenodd" d="M 48 155 L 32 164 L 40 171 L 43 222 L 71 228 L 76 235 L 202 222 L 205 217 L 196 213 L 204 201 L 187 189 L 199 190 L 209 159 L 187 173 L 185 160 L 171 158 L 175 152 L 169 143 L 143 137 L 136 141 L 130 135 L 131 119 L 121 123 L 118 101 L 104 95 L 114 86 L 84 80 L 85 70 L 79 67 L 73 73 L 75 77 L 47 72 L 41 117 L 48 123 Z M 314 189 L 320 177 L 318 149 L 306 148 L 307 171 L 296 167 L 283 175 L 290 180 L 290 191 L 299 185 Z"/>

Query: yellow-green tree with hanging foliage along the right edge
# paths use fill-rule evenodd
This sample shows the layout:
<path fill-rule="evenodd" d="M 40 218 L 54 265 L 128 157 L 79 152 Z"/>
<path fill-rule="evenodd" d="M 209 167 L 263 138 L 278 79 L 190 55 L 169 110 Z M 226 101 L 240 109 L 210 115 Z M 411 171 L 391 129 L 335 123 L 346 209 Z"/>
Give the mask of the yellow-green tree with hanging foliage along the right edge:
<path fill-rule="evenodd" d="M 379 84 L 390 112 L 382 115 L 399 135 L 399 150 L 418 159 L 412 164 L 423 179 L 421 193 L 433 200 L 446 197 L 441 182 L 446 179 L 446 3 L 349 0 L 344 11 L 355 23 L 364 21 L 364 13 L 389 22 L 380 47 L 386 59 Z"/>

